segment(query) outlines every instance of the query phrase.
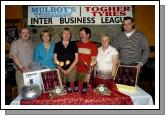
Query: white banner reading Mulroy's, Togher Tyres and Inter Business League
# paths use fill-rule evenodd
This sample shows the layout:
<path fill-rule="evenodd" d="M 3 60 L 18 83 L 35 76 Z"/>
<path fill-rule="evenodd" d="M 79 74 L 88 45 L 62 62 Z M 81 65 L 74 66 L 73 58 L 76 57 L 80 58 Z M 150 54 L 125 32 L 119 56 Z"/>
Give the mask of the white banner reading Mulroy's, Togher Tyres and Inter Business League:
<path fill-rule="evenodd" d="M 28 25 L 113 25 L 132 17 L 132 6 L 28 6 Z"/>

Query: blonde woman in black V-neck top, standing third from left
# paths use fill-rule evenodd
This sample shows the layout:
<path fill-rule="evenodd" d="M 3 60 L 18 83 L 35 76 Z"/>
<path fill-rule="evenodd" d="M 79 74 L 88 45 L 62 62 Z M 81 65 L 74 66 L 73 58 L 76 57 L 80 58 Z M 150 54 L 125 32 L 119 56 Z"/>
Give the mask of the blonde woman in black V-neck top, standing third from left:
<path fill-rule="evenodd" d="M 74 91 L 78 91 L 78 82 L 76 81 L 75 66 L 78 62 L 78 48 L 75 42 L 70 41 L 71 31 L 69 28 L 64 28 L 61 33 L 61 41 L 55 44 L 54 48 L 54 63 L 58 65 L 61 71 L 61 78 L 66 82 L 67 92 L 72 92 L 70 82 L 75 81 Z"/>

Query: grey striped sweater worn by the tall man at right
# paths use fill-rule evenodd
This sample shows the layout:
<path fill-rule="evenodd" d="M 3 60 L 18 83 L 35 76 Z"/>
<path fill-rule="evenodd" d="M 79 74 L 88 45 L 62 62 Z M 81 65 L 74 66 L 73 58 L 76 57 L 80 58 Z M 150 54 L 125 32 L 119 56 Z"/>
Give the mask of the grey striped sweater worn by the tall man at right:
<path fill-rule="evenodd" d="M 119 52 L 120 62 L 124 64 L 140 63 L 145 64 L 149 56 L 147 39 L 142 32 L 135 31 L 130 37 L 121 32 L 113 42 Z"/>

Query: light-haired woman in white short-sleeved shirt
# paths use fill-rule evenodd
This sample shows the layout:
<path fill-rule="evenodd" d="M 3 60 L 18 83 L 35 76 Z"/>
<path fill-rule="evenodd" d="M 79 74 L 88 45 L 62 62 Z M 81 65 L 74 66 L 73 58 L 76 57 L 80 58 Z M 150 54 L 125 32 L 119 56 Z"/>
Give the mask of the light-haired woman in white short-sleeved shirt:
<path fill-rule="evenodd" d="M 97 64 L 95 67 L 95 80 L 93 86 L 105 84 L 110 87 L 110 82 L 114 81 L 113 77 L 118 65 L 118 52 L 110 45 L 109 36 L 101 37 L 102 46 L 98 48 Z"/>

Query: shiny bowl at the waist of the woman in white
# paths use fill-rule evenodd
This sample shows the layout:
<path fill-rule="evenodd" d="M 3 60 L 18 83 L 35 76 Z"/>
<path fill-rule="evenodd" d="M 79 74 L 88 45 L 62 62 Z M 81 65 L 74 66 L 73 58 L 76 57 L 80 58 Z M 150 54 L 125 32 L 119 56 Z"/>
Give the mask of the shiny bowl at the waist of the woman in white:
<path fill-rule="evenodd" d="M 97 77 L 99 77 L 100 79 L 111 79 L 112 72 L 111 71 L 98 71 Z"/>

